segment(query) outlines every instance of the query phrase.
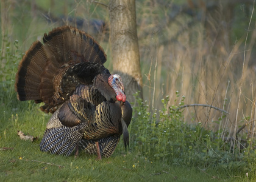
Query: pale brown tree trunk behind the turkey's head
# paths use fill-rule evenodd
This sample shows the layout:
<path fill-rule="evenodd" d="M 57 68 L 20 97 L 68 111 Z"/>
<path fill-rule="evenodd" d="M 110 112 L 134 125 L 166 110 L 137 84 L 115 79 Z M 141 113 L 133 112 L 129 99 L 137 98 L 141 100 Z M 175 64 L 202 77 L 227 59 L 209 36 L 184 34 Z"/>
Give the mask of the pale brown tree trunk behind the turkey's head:
<path fill-rule="evenodd" d="M 110 0 L 108 9 L 113 72 L 122 77 L 127 100 L 134 102 L 134 93 L 143 97 L 135 0 Z"/>

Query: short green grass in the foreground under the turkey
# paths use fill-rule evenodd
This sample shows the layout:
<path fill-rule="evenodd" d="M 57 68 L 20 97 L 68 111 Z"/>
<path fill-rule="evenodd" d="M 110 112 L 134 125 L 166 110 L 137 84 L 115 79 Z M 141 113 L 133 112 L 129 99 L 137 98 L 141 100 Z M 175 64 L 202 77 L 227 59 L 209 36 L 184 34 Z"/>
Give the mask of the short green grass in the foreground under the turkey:
<path fill-rule="evenodd" d="M 121 149 L 101 161 L 84 152 L 77 158 L 51 155 L 40 151 L 40 136 L 31 143 L 18 138 L 14 125 L 5 136 L 1 131 L 0 146 L 13 147 L 0 151 L 1 181 L 246 181 L 245 174 L 235 176 L 215 169 L 173 166 L 151 161 L 136 152 L 124 155 Z"/>

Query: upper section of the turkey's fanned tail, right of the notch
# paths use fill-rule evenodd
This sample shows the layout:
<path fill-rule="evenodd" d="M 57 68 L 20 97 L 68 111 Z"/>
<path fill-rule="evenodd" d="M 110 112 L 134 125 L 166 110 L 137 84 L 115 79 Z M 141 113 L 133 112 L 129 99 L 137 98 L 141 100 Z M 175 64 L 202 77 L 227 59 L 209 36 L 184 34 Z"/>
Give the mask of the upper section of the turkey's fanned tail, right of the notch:
<path fill-rule="evenodd" d="M 49 55 L 59 64 L 69 61 L 94 62 L 104 64 L 107 56 L 97 41 L 90 35 L 74 27 L 64 26 L 44 33 L 43 42 Z"/>

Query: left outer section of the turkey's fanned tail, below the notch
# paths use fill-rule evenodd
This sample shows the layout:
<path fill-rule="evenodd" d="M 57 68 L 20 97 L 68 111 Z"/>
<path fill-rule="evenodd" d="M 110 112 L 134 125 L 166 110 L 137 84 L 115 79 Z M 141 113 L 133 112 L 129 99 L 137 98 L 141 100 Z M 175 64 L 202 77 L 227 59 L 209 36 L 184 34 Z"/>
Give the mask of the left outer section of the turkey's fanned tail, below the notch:
<path fill-rule="evenodd" d="M 36 41 L 23 56 L 15 76 L 15 90 L 20 101 L 35 100 L 41 102 L 41 73 L 46 65 L 46 52 L 43 44 Z"/>

